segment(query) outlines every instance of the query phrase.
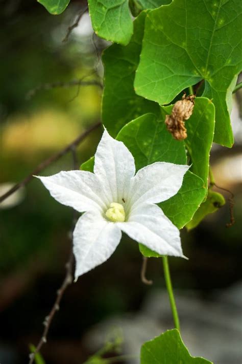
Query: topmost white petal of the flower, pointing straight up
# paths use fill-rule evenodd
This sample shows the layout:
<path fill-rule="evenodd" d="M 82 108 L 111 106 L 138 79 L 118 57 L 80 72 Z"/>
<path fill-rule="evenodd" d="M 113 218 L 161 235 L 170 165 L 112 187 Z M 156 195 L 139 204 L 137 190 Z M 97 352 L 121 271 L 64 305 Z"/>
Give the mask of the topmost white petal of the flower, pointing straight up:
<path fill-rule="evenodd" d="M 110 137 L 106 130 L 96 149 L 94 173 L 111 192 L 110 202 L 120 203 L 127 198 L 127 189 L 135 174 L 134 158 L 125 144 Z"/>

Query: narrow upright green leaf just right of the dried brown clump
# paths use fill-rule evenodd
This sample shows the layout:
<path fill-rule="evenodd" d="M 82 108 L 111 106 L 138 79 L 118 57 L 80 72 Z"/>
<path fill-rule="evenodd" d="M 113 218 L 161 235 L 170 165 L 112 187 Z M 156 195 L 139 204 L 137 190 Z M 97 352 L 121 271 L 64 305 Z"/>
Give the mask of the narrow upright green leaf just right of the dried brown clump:
<path fill-rule="evenodd" d="M 167 114 L 171 106 L 162 108 Z M 190 156 L 190 171 L 201 177 L 207 188 L 209 155 L 214 134 L 215 109 L 205 97 L 197 97 L 191 117 L 185 122 L 187 138 L 184 140 Z"/>

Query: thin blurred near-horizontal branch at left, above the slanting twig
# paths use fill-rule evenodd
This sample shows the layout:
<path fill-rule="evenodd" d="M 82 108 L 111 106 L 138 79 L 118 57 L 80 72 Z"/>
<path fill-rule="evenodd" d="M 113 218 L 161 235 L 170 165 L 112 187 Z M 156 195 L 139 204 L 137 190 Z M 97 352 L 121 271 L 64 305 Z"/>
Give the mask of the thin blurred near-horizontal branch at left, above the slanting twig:
<path fill-rule="evenodd" d="M 27 100 L 31 99 L 33 96 L 36 95 L 36 93 L 38 91 L 51 90 L 51 89 L 56 89 L 56 88 L 68 88 L 68 87 L 72 87 L 72 86 L 78 86 L 80 88 L 81 86 L 93 86 L 94 85 L 94 86 L 98 86 L 100 89 L 103 89 L 103 84 L 100 81 L 98 81 L 98 80 L 83 81 L 83 78 L 75 79 L 75 80 L 71 80 L 71 81 L 67 81 L 67 82 L 57 81 L 57 82 L 52 82 L 52 83 L 43 83 L 43 84 L 39 85 L 38 87 L 30 90 L 26 94 L 26 99 Z"/>

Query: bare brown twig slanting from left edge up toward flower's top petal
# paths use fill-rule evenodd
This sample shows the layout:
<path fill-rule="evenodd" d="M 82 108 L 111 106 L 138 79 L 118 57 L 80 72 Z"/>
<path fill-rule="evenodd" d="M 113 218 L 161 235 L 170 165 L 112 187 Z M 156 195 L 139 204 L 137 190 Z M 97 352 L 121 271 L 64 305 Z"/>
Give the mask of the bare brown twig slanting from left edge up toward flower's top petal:
<path fill-rule="evenodd" d="M 13 194 L 17 189 L 19 189 L 22 186 L 27 185 L 34 177 L 33 175 L 38 175 L 41 170 L 49 166 L 51 163 L 57 161 L 62 156 L 64 156 L 66 153 L 71 151 L 74 147 L 76 147 L 78 144 L 81 143 L 93 130 L 97 129 L 101 125 L 101 122 L 97 122 L 94 125 L 90 126 L 89 129 L 87 129 L 84 133 L 79 135 L 74 141 L 72 141 L 70 144 L 68 144 L 64 149 L 61 149 L 60 152 L 54 154 L 50 158 L 46 159 L 42 163 L 40 163 L 37 168 L 31 172 L 25 179 L 23 179 L 21 182 L 15 184 L 9 191 L 6 192 L 3 196 L 0 197 L 0 203 L 3 202 L 7 197 Z"/>

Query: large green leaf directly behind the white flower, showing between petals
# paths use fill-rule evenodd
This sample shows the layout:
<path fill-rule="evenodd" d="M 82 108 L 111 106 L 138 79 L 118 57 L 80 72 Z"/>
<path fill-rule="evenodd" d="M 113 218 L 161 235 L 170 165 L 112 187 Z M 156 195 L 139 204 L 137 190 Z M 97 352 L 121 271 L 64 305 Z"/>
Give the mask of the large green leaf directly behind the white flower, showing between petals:
<path fill-rule="evenodd" d="M 186 163 L 184 142 L 173 139 L 166 130 L 164 117 L 163 112 L 159 118 L 154 114 L 140 116 L 125 125 L 118 133 L 116 139 L 123 141 L 129 148 L 135 159 L 136 170 L 158 161 Z M 205 195 L 203 180 L 188 171 L 178 194 L 160 203 L 159 206 L 180 229 L 191 220 Z M 141 244 L 139 249 L 144 256 L 159 256 Z"/>

